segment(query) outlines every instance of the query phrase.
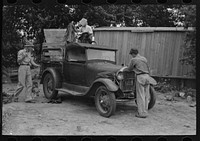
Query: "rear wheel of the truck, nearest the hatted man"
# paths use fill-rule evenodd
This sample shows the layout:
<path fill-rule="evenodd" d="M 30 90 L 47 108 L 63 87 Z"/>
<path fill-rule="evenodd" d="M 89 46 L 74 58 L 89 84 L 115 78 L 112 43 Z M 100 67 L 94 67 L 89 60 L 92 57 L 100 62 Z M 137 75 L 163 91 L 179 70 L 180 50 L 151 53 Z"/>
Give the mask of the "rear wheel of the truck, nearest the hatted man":
<path fill-rule="evenodd" d="M 51 73 L 47 73 L 44 76 L 43 91 L 47 99 L 55 99 L 57 97 L 58 91 L 55 90 L 56 83 L 58 82 L 55 81 Z"/>

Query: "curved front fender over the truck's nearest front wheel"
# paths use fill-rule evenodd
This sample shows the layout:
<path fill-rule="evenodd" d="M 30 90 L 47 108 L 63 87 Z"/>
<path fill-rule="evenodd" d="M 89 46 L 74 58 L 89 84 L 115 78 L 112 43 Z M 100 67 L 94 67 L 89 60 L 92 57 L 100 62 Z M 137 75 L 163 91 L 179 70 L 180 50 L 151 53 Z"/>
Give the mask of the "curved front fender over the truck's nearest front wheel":
<path fill-rule="evenodd" d="M 91 88 L 96 87 L 101 84 L 104 84 L 106 88 L 111 92 L 116 92 L 119 89 L 119 87 L 112 80 L 107 79 L 107 78 L 98 78 L 97 80 L 93 82 Z"/>

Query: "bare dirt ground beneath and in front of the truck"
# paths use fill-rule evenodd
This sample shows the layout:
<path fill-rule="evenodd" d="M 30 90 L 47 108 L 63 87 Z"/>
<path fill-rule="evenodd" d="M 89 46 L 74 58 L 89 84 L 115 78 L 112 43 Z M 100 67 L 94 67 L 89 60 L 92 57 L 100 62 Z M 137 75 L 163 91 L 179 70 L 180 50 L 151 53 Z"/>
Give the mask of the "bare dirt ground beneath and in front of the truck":
<path fill-rule="evenodd" d="M 9 92 L 16 84 L 4 84 Z M 4 121 L 3 135 L 196 135 L 196 107 L 185 99 L 167 101 L 158 93 L 156 105 L 146 119 L 136 118 L 134 101 L 118 102 L 115 115 L 100 116 L 93 99 L 60 93 L 62 103 L 47 103 L 42 85 L 36 103 L 25 103 L 21 95 L 18 103 L 3 105 L 9 112 Z"/>

